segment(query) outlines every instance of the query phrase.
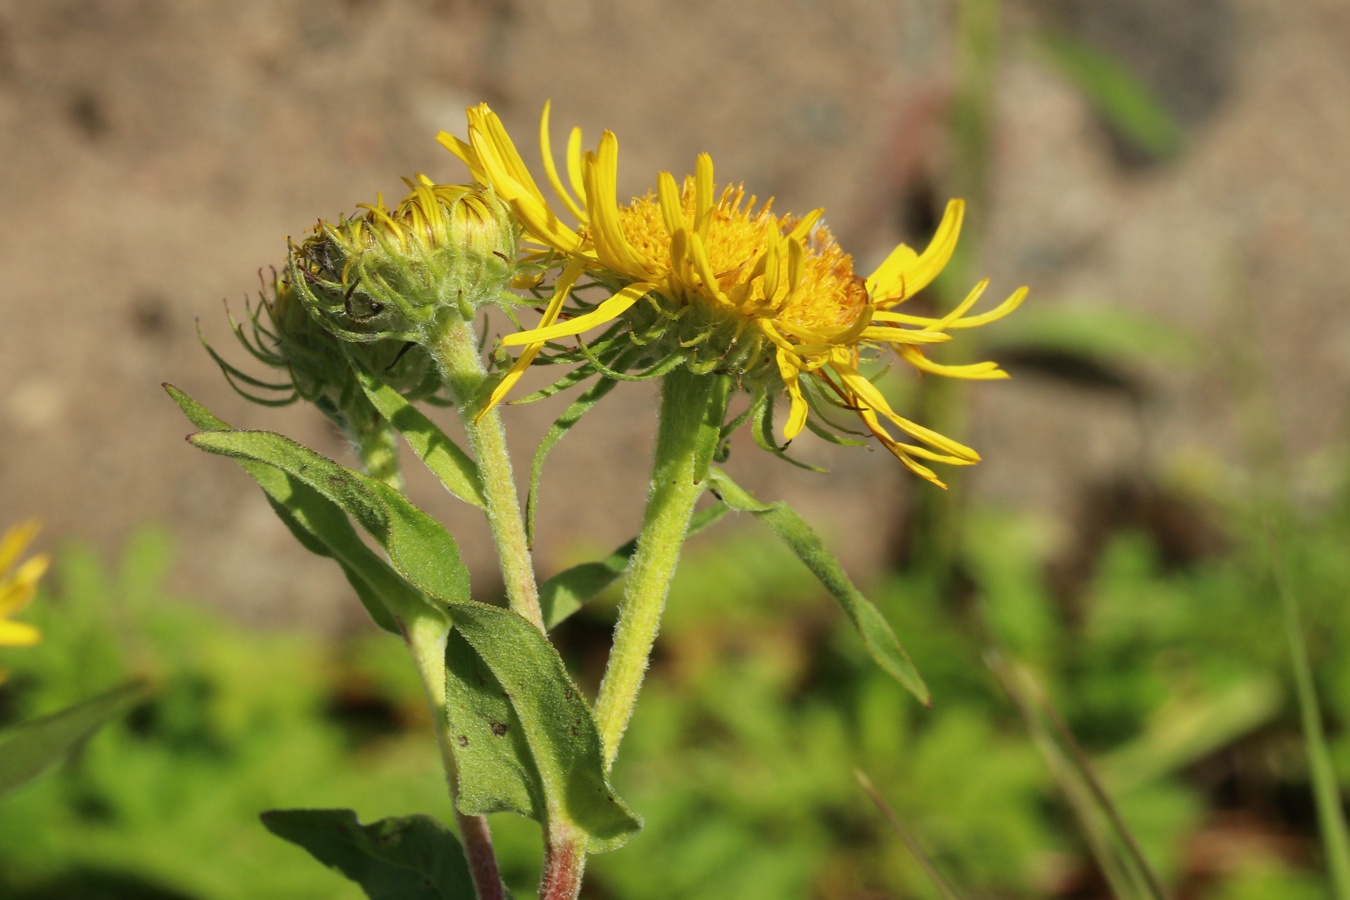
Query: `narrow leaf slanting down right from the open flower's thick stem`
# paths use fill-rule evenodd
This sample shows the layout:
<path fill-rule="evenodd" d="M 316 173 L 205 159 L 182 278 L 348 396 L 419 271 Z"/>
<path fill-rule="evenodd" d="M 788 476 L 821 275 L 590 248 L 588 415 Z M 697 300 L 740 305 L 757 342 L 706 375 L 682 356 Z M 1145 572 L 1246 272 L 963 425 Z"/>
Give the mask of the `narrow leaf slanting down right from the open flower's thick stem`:
<path fill-rule="evenodd" d="M 726 472 L 714 468 L 710 475 L 713 491 L 729 507 L 751 513 L 768 525 L 784 544 L 796 553 L 796 559 L 811 569 L 825 590 L 838 602 L 848 615 L 867 652 L 891 677 L 905 685 L 921 703 L 929 706 L 929 690 L 919 677 L 918 669 L 910 661 L 910 654 L 900 646 L 899 638 L 882 613 L 872 606 L 853 586 L 844 567 L 834 555 L 825 549 L 819 536 L 787 503 L 760 503 L 728 478 Z"/>

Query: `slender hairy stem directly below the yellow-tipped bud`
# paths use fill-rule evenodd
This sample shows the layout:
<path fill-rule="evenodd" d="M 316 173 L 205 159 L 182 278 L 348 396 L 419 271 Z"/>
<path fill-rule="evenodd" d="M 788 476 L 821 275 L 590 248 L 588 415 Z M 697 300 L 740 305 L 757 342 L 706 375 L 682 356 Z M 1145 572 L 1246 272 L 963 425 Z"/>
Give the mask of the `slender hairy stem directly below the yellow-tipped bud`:
<path fill-rule="evenodd" d="M 468 434 L 468 444 L 478 463 L 483 499 L 487 503 L 487 525 L 497 544 L 502 580 L 510 609 L 529 619 L 540 631 L 544 617 L 539 609 L 539 586 L 535 565 L 525 538 L 525 519 L 520 511 L 516 479 L 512 476 L 506 432 L 497 409 L 479 416 L 474 398 L 487 381 L 478 340 L 470 322 L 448 320 L 436 336 L 433 352 L 446 375 L 446 385 L 455 397 L 460 421 Z"/>

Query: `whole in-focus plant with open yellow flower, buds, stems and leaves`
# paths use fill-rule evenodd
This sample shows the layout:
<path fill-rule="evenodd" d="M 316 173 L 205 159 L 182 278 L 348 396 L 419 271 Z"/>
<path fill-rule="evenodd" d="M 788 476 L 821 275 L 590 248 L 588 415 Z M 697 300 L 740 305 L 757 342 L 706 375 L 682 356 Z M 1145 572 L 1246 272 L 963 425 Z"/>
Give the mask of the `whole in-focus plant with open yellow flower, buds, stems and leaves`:
<path fill-rule="evenodd" d="M 486 105 L 468 111 L 467 139 L 441 134 L 440 142 L 473 184 L 418 177 L 393 208 L 377 200 L 320 223 L 234 324 L 275 375 L 211 351 L 251 399 L 321 409 L 350 437 L 355 468 L 281 434 L 231 428 L 169 391 L 200 429 L 189 440 L 238 460 L 297 540 L 333 559 L 374 621 L 408 645 L 435 716 L 458 837 L 425 816 L 362 826 L 350 811 L 274 811 L 267 827 L 371 893 L 431 896 L 398 893 L 416 882 L 436 885 L 435 896 L 487 899 L 505 888 L 485 816 L 512 811 L 543 830 L 540 896 L 576 897 L 587 855 L 618 849 L 641 827 L 610 770 L 694 530 L 728 511 L 767 524 L 841 604 L 878 665 L 927 700 L 890 625 L 810 526 L 786 505 L 751 497 L 718 464 L 741 426 L 790 460 L 791 443 L 810 429 L 842 444 L 875 441 L 929 482 L 925 490 L 942 487 L 941 467 L 969 466 L 977 453 L 902 416 L 876 379 L 891 358 L 923 376 L 1004 378 L 992 362 L 945 364 L 930 351 L 1013 312 L 1026 291 L 977 310 L 980 282 L 950 312 L 906 312 L 952 258 L 960 200 L 922 252 L 902 244 L 863 277 L 822 210 L 779 213 L 740 185 L 718 186 L 707 155 L 683 182 L 660 173 L 653 192 L 620 202 L 617 138 L 605 132 L 583 151 L 572 130 L 559 167 L 547 107 L 539 179 Z M 486 308 L 517 331 L 485 345 Z M 563 374 L 513 399 L 532 366 Z M 641 532 L 606 567 L 539 582 L 531 542 L 544 457 L 617 385 L 645 379 L 660 381 L 662 399 Z M 539 447 L 522 505 L 502 409 L 571 387 L 580 393 Z M 424 405 L 452 407 L 467 447 Z M 398 436 L 486 515 L 505 604 L 474 595 L 454 536 L 408 499 Z M 601 569 L 608 575 L 597 578 Z M 621 569 L 618 622 L 593 702 L 548 633 Z M 348 838 L 340 851 L 335 828 Z"/>

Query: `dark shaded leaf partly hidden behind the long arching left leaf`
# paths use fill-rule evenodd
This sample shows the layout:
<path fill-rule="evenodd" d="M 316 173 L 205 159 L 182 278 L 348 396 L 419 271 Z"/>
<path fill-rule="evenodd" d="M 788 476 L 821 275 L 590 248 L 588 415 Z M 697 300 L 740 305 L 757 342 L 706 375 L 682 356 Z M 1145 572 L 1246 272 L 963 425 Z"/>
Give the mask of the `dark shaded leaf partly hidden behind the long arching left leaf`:
<path fill-rule="evenodd" d="M 165 385 L 165 390 L 197 428 L 231 430 L 230 425 L 173 385 Z M 389 563 L 366 546 L 347 521 L 347 514 L 313 488 L 271 466 L 247 460 L 240 460 L 240 466 L 258 482 L 267 502 L 301 546 L 336 560 L 370 618 L 386 631 L 398 634 L 398 622 L 390 610 L 408 609 L 423 600 Z"/>

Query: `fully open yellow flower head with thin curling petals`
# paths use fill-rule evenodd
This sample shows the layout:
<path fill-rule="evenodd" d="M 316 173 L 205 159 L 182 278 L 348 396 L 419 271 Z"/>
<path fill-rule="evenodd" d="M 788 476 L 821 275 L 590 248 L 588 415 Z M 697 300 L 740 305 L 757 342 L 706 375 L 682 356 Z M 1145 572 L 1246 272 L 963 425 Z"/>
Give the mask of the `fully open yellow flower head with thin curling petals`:
<path fill-rule="evenodd" d="M 946 266 L 961 228 L 964 204 L 953 200 L 927 250 L 900 244 L 867 279 L 853 273 L 853 259 L 821 223 L 824 210 L 779 216 L 772 200 L 740 186 L 718 193 L 713 161 L 698 157 L 695 174 L 676 185 L 660 173 L 656 192 L 621 205 L 617 198 L 618 139 L 606 131 L 594 152 L 580 151 L 580 130 L 567 144 L 567 184 L 554 162 L 548 105 L 540 123 L 544 173 L 552 192 L 576 220 L 564 224 L 536 185 L 510 136 L 486 104 L 468 109 L 468 140 L 448 134 L 440 142 L 506 200 L 524 225 L 524 240 L 539 254 L 566 262 L 539 327 L 509 335 L 506 347 L 522 347 L 497 387 L 500 402 L 547 341 L 580 335 L 624 320 L 633 340 L 649 343 L 662 322 L 682 321 L 679 340 L 666 349 L 702 352 L 733 371 L 752 391 L 771 383 L 791 401 L 783 439 L 791 441 L 814 412 L 849 410 L 906 467 L 941 484 L 921 463 L 971 464 L 979 455 L 918 422 L 899 416 L 859 368 L 876 349 L 890 347 L 915 368 L 952 378 L 1007 378 L 995 363 L 942 366 L 929 360 L 925 344 L 950 340 L 949 331 L 983 325 L 1013 312 L 1026 296 L 1021 289 L 996 309 L 968 314 L 987 281 L 941 317 L 896 312 Z M 612 296 L 570 317 L 564 304 L 578 278 L 589 275 Z M 640 302 L 640 301 L 647 301 Z M 693 320 L 694 325 L 687 327 Z M 590 354 L 587 354 L 590 356 Z M 603 370 L 599 370 L 603 371 Z M 711 371 L 711 370 L 710 370 Z M 828 420 L 825 420 L 828 421 Z M 811 422 L 814 425 L 814 422 Z M 918 443 L 898 439 L 891 429 Z"/>

